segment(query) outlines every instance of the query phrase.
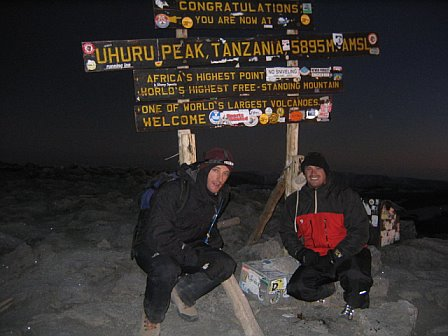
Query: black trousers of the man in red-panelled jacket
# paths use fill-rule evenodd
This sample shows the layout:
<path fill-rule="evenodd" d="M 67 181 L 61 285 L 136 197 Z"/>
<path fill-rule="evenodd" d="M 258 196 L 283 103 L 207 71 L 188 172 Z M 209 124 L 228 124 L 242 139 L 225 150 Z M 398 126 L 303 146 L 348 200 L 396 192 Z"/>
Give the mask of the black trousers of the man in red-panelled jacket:
<path fill-rule="evenodd" d="M 337 268 L 328 262 L 328 258 L 320 257 L 316 265 L 299 266 L 288 282 L 287 293 L 296 299 L 313 302 L 333 294 L 327 284 L 339 281 L 347 304 L 353 308 L 368 308 L 369 291 L 373 285 L 371 263 L 368 248 L 343 261 Z"/>

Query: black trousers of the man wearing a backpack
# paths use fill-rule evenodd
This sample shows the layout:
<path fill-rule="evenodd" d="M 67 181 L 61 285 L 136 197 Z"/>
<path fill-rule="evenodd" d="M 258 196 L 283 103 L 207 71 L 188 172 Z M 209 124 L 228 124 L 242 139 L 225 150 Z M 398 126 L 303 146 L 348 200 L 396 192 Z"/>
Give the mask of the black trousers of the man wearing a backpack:
<path fill-rule="evenodd" d="M 136 248 L 135 260 L 147 274 L 143 306 L 152 323 L 161 323 L 170 305 L 174 286 L 188 306 L 227 280 L 236 263 L 227 253 L 212 247 L 201 247 L 201 261 L 209 263 L 210 271 L 201 267 L 183 267 L 174 258 L 158 254 L 143 244 Z M 202 265 L 200 265 L 202 266 Z"/>

